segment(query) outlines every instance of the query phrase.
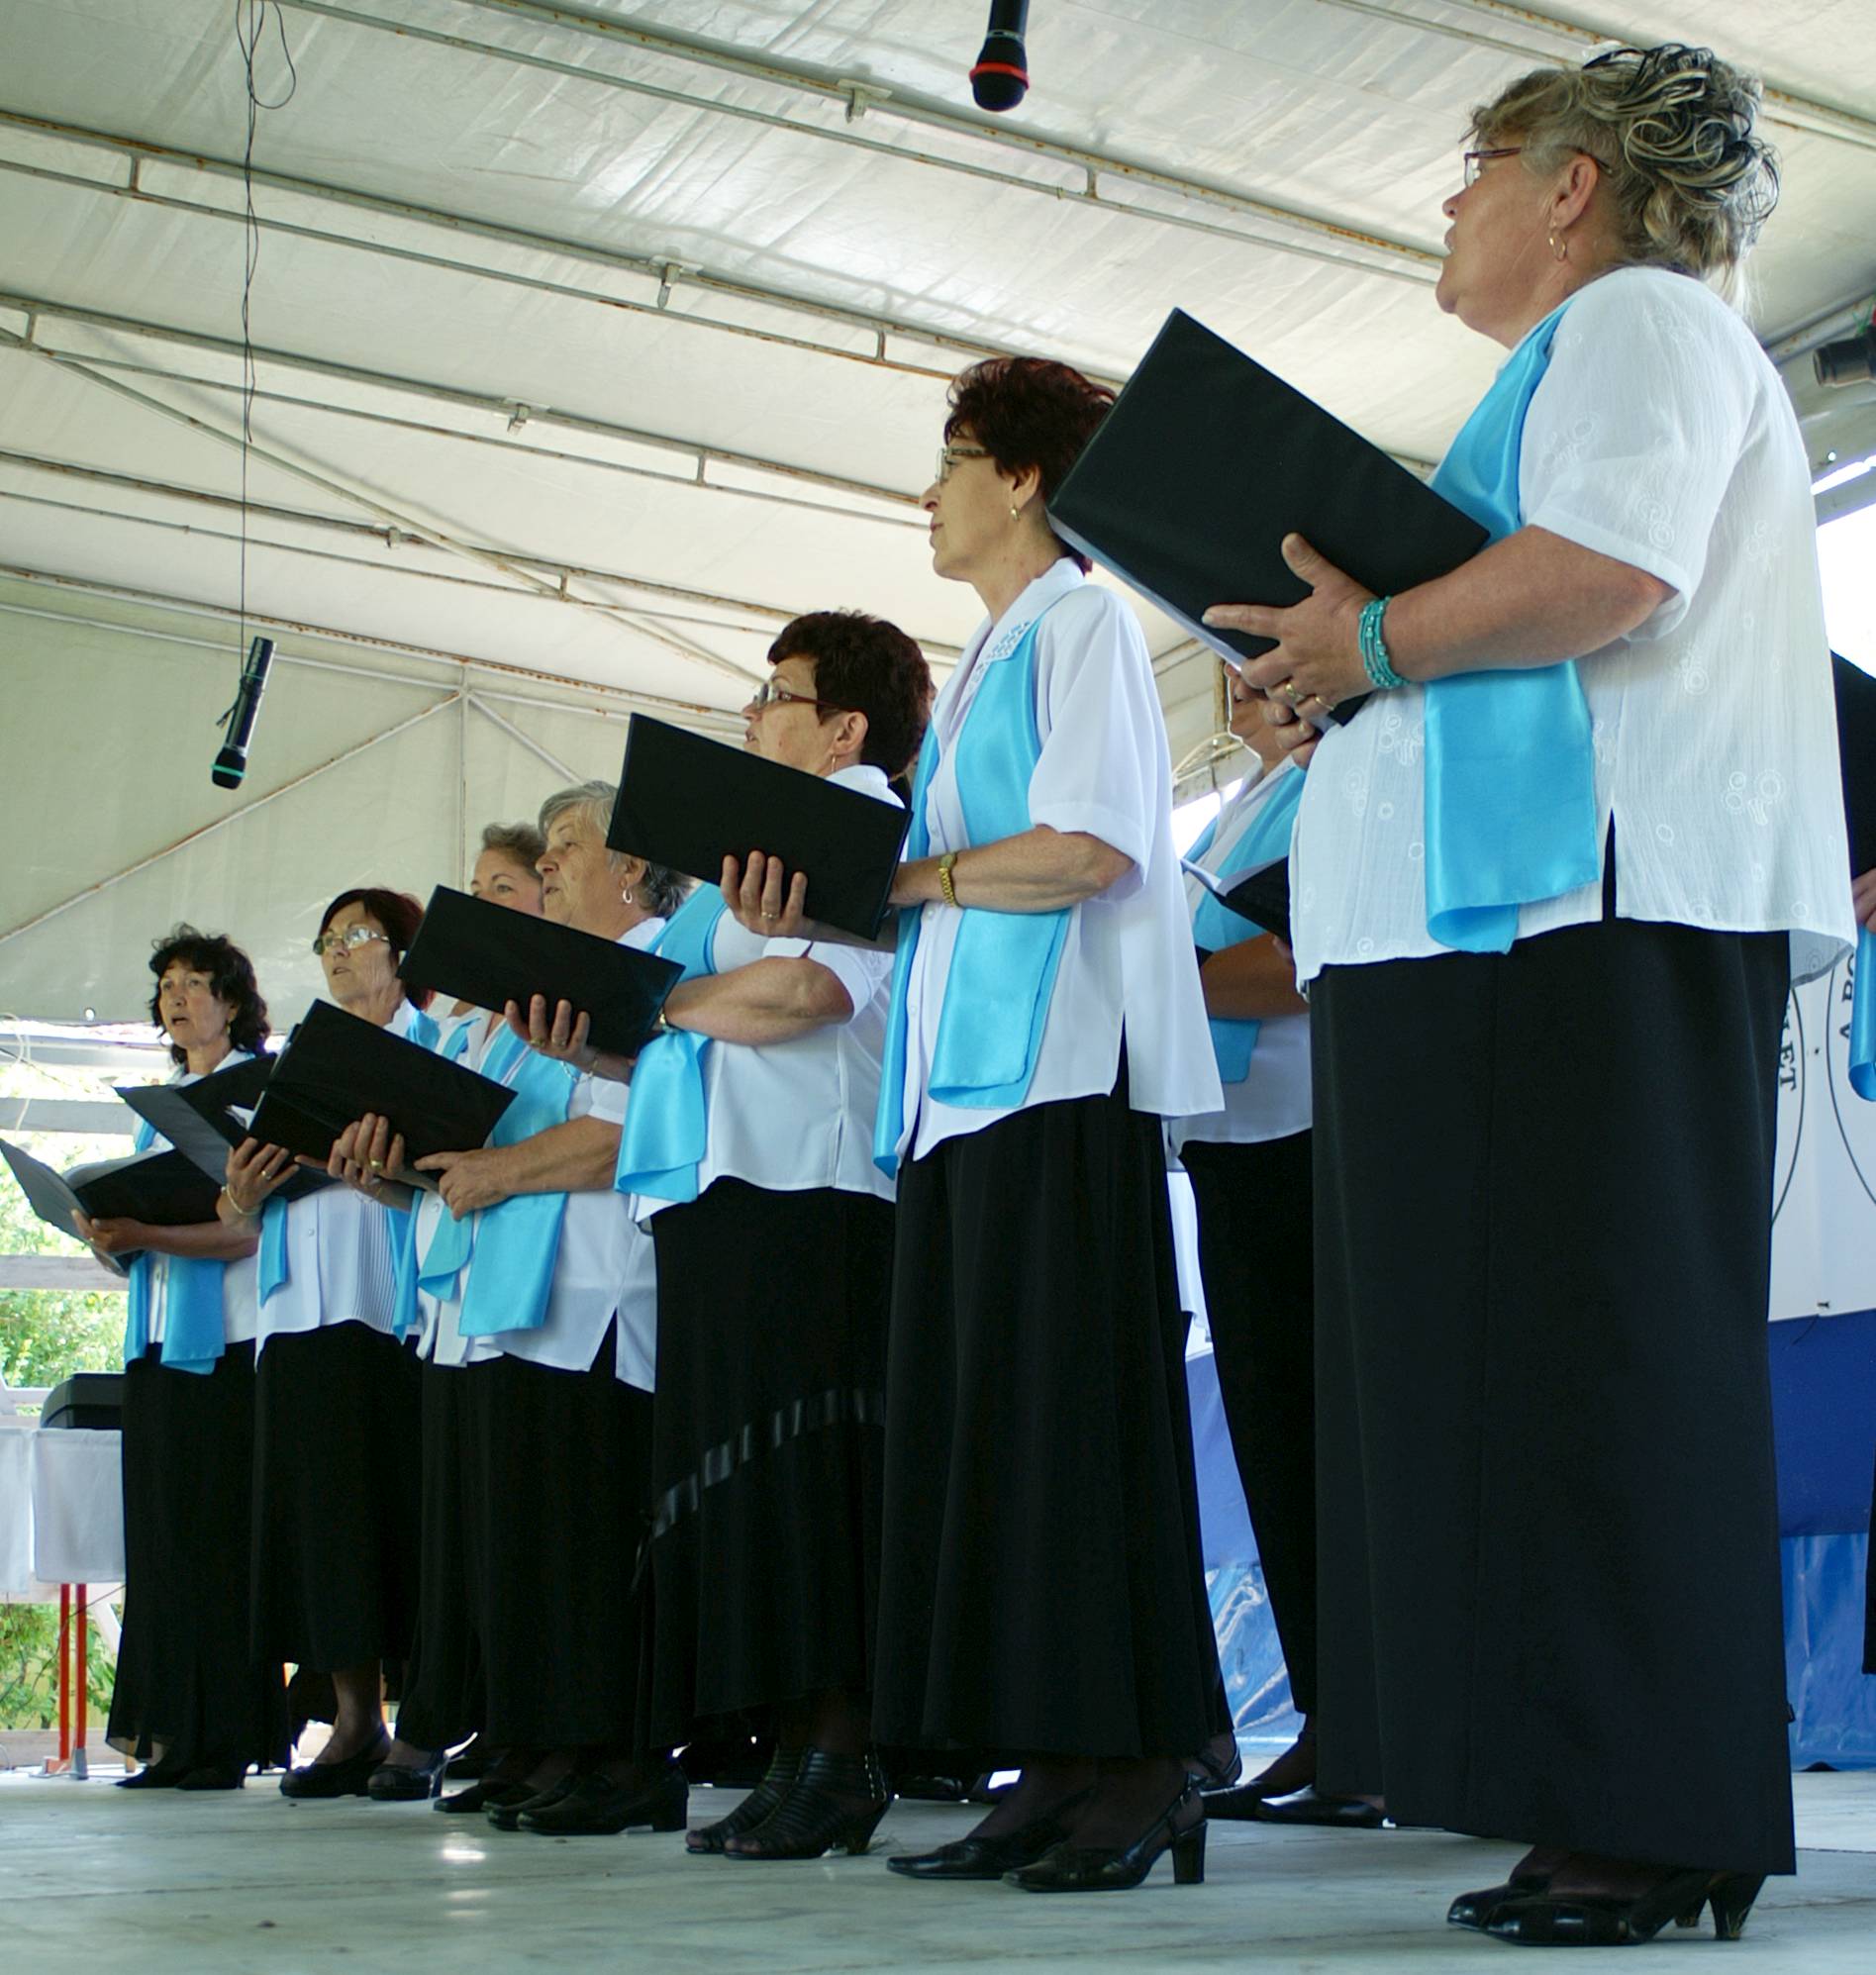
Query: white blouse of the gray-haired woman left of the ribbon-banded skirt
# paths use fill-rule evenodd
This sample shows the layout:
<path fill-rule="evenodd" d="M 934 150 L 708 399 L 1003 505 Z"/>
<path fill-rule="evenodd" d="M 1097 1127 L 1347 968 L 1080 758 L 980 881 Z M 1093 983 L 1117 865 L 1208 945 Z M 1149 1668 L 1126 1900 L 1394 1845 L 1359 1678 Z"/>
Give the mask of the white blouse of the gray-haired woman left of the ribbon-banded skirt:
<path fill-rule="evenodd" d="M 642 918 L 618 944 L 652 948 L 664 928 L 662 918 Z M 604 1118 L 622 1126 L 628 1096 L 628 1084 L 581 1076 L 567 1102 L 567 1118 Z M 468 1266 L 476 1266 L 474 1254 Z M 652 1236 L 638 1226 L 628 1201 L 608 1179 L 606 1185 L 567 1195 L 541 1327 L 472 1337 L 468 1363 L 517 1357 L 553 1371 L 588 1371 L 614 1315 L 612 1375 L 650 1392 L 658 1384 L 658 1264 Z"/>

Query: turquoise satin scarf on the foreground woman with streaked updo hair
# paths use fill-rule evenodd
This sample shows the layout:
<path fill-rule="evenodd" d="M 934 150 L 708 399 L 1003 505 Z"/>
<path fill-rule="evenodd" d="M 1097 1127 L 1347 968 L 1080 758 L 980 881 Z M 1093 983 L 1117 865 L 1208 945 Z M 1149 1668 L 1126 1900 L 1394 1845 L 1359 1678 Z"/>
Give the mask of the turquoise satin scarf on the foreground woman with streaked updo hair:
<path fill-rule="evenodd" d="M 1524 523 L 1524 415 L 1544 381 L 1564 308 L 1544 316 L 1505 359 L 1434 474 L 1434 492 L 1493 541 Z M 1521 905 L 1598 877 L 1596 750 L 1576 666 L 1430 681 L 1426 930 L 1459 952 L 1503 954 L 1517 938 Z"/>

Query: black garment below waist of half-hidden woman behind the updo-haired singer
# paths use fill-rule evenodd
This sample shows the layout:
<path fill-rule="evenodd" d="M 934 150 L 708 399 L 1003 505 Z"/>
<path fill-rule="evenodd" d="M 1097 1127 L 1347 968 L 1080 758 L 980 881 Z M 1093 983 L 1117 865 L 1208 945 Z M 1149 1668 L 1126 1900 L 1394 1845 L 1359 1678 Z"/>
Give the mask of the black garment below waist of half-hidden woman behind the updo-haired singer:
<path fill-rule="evenodd" d="M 1193 1142 L 1179 1153 L 1199 1205 L 1224 1424 L 1299 1714 L 1315 1714 L 1311 1161 L 1309 1132 L 1254 1146 Z"/>

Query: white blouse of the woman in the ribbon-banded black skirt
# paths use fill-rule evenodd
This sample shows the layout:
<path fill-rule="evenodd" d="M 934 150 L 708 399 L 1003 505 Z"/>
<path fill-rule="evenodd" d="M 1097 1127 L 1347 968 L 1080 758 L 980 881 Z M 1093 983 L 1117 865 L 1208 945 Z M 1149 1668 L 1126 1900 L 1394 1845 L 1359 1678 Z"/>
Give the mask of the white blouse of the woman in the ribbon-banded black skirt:
<path fill-rule="evenodd" d="M 827 780 L 899 802 L 883 768 L 841 768 Z M 699 1195 L 713 1179 L 743 1179 L 770 1193 L 833 1187 L 893 1199 L 893 1181 L 873 1163 L 893 956 L 837 940 L 764 940 L 729 912 L 711 938 L 719 974 L 804 956 L 839 980 L 853 1013 L 786 1043 L 711 1043 L 703 1053 L 709 1147 L 697 1167 Z M 669 1205 L 644 1193 L 632 1197 L 632 1213 L 644 1223 Z"/>

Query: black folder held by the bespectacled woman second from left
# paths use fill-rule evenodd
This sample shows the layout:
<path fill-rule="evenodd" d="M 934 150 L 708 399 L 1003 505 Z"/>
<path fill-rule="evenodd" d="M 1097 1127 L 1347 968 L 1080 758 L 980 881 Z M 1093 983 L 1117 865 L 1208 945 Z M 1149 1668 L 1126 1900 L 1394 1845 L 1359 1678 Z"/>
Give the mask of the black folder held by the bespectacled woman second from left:
<path fill-rule="evenodd" d="M 423 1043 L 314 1001 L 261 1092 L 253 1136 L 324 1165 L 340 1132 L 375 1112 L 403 1134 L 405 1159 L 415 1161 L 486 1144 L 513 1098 L 513 1090 Z"/>

